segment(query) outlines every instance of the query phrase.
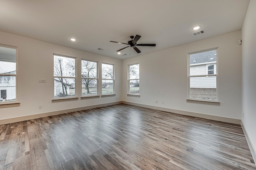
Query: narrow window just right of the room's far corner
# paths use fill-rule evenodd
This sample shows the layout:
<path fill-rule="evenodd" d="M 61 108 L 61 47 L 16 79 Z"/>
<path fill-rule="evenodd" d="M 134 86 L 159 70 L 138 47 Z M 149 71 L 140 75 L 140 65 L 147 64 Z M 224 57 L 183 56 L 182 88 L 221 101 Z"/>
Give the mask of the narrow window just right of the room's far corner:
<path fill-rule="evenodd" d="M 128 65 L 128 94 L 140 94 L 140 65 Z"/>

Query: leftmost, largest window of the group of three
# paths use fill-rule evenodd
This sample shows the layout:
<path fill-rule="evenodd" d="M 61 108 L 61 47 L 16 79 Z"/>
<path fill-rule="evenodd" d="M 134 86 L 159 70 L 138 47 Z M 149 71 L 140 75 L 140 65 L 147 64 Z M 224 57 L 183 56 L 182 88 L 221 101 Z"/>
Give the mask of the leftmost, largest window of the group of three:
<path fill-rule="evenodd" d="M 54 98 L 76 96 L 76 59 L 54 54 Z"/>

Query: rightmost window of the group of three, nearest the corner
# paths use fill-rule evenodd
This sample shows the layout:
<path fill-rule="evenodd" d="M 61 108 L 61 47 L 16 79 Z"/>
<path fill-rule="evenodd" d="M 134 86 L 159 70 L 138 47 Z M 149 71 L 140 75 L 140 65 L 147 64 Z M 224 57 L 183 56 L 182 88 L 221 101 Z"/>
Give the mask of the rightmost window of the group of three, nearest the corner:
<path fill-rule="evenodd" d="M 114 94 L 114 65 L 102 63 L 102 95 Z"/>

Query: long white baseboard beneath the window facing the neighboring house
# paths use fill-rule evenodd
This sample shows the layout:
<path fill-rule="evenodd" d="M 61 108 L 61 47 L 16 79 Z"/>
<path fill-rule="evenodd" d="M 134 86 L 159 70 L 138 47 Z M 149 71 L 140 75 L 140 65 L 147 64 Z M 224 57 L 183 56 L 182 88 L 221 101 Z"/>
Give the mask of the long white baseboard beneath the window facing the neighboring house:
<path fill-rule="evenodd" d="M 205 114 L 201 114 L 201 113 L 181 111 L 181 110 L 169 109 L 169 108 L 164 108 L 164 107 L 156 107 L 156 106 L 144 105 L 144 104 L 139 104 L 139 103 L 132 103 L 132 102 L 127 102 L 127 101 L 122 101 L 122 103 L 128 104 L 128 105 L 146 107 L 146 108 L 149 108 L 149 109 L 156 109 L 156 110 L 160 110 L 160 111 L 167 111 L 167 112 L 177 113 L 177 114 L 180 114 L 180 115 L 200 117 L 200 118 L 204 118 L 204 119 L 210 119 L 210 120 L 214 120 L 214 121 L 221 121 L 221 122 L 227 122 L 227 123 L 234 123 L 234 124 L 238 124 L 238 125 L 241 124 L 240 119 L 232 119 L 232 118 L 228 118 L 228 117 L 205 115 Z"/>

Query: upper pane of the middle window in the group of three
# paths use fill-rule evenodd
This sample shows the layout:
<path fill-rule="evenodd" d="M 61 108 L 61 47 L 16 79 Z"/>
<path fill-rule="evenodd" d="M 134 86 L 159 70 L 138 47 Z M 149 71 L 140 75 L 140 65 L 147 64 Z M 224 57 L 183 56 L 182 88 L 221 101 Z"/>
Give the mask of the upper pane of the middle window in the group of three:
<path fill-rule="evenodd" d="M 97 63 L 82 60 L 82 77 L 97 78 Z"/>

